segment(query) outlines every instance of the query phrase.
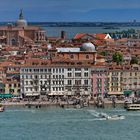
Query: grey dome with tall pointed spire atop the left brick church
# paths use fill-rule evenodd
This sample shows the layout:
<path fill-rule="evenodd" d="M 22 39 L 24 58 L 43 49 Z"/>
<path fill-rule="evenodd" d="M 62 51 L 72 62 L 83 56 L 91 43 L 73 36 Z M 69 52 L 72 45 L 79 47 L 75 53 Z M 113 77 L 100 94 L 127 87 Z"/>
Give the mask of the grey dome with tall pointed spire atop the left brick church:
<path fill-rule="evenodd" d="M 21 28 L 27 26 L 27 21 L 24 19 L 22 9 L 20 10 L 19 19 L 17 20 L 16 25 L 17 25 L 17 27 L 21 27 Z"/>

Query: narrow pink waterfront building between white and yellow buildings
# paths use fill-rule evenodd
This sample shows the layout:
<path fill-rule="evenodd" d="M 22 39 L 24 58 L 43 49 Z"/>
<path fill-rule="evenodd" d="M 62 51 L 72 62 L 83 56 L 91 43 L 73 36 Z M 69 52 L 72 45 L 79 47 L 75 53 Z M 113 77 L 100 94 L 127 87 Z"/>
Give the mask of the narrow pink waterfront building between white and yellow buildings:
<path fill-rule="evenodd" d="M 107 68 L 103 66 L 95 66 L 91 70 L 92 75 L 92 96 L 98 97 L 107 93 Z"/>

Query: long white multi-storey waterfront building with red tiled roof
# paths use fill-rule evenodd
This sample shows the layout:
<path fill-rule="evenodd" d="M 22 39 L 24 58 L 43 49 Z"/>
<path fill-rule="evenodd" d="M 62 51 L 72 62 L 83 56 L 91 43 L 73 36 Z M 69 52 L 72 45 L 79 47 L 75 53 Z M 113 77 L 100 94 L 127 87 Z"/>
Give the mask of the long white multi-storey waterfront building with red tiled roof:
<path fill-rule="evenodd" d="M 58 59 L 58 58 L 57 58 Z M 90 95 L 90 65 L 81 65 L 70 60 L 29 60 L 20 70 L 21 94 Z M 82 62 L 81 62 L 82 63 Z"/>

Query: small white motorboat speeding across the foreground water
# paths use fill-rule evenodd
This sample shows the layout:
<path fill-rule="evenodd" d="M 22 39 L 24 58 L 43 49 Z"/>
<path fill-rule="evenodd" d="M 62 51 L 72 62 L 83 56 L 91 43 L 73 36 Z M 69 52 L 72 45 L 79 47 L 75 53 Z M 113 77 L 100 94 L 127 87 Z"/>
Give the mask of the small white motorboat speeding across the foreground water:
<path fill-rule="evenodd" d="M 105 113 L 100 113 L 99 116 L 101 118 L 105 118 L 106 120 L 123 120 L 123 119 L 125 119 L 125 116 L 122 116 L 122 115 L 109 116 Z"/>

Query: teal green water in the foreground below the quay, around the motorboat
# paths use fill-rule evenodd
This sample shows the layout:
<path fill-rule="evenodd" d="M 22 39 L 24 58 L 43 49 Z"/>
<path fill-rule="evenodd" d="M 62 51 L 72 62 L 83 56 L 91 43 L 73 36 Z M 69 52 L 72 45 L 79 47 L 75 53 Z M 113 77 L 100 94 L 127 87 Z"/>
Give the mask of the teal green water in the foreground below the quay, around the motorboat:
<path fill-rule="evenodd" d="M 125 120 L 109 121 L 95 111 L 122 114 Z M 138 140 L 140 112 L 123 109 L 6 108 L 0 113 L 0 140 Z"/>

